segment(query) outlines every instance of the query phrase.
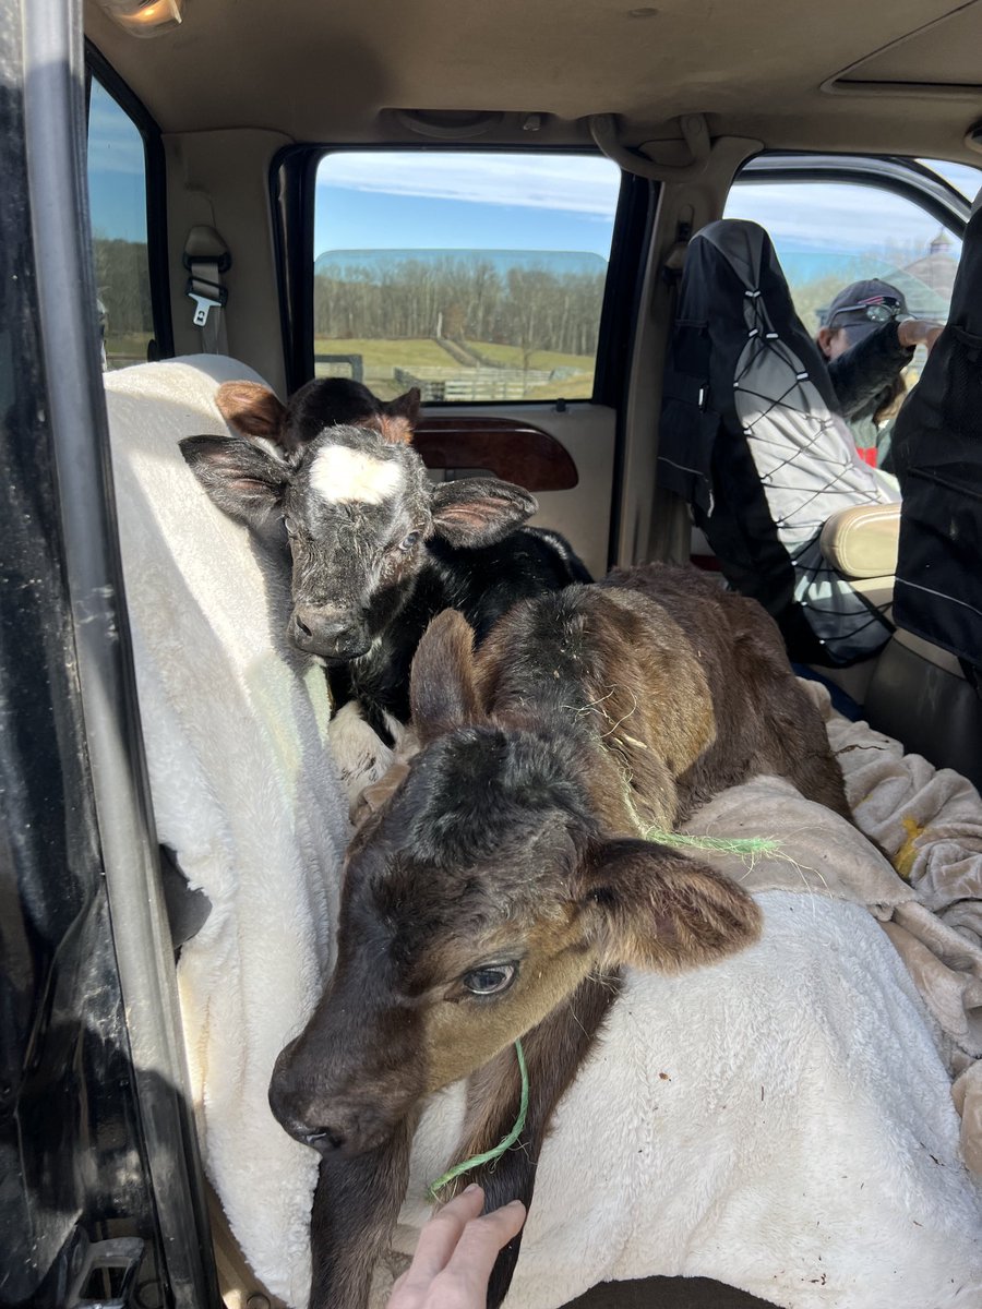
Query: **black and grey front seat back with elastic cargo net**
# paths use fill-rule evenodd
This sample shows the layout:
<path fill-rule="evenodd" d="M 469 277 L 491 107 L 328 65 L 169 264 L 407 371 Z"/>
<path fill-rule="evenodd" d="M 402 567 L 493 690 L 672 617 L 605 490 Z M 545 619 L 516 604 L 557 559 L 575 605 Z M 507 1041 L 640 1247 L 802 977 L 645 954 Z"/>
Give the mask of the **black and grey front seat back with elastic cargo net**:
<path fill-rule="evenodd" d="M 864 463 L 767 233 L 703 228 L 686 253 L 665 373 L 659 480 L 682 496 L 732 586 L 782 627 L 792 658 L 850 664 L 892 627 L 824 559 L 839 509 L 896 491 Z"/>

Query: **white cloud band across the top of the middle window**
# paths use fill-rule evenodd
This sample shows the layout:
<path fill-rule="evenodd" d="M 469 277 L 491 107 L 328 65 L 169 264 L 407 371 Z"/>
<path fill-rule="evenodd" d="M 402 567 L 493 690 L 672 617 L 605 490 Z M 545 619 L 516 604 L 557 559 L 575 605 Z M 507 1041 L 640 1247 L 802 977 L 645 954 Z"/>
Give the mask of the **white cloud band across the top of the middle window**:
<path fill-rule="evenodd" d="M 619 169 L 583 154 L 351 152 L 329 154 L 318 187 L 414 195 L 435 200 L 562 209 L 611 220 Z"/>

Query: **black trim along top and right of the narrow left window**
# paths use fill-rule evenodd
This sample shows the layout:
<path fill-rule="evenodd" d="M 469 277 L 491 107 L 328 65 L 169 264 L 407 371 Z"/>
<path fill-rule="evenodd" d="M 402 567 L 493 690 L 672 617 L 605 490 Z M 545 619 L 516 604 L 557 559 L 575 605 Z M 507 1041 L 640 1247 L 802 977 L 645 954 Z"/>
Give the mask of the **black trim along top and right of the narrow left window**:
<path fill-rule="evenodd" d="M 168 263 L 168 175 L 161 131 L 143 101 L 137 99 L 127 82 L 88 37 L 85 38 L 85 69 L 86 122 L 89 117 L 88 85 L 90 77 L 94 76 L 103 90 L 132 120 L 143 137 L 147 162 L 147 263 L 151 276 L 153 338 L 157 342 L 157 356 L 172 359 L 174 355 L 174 321 L 170 308 L 170 267 Z"/>

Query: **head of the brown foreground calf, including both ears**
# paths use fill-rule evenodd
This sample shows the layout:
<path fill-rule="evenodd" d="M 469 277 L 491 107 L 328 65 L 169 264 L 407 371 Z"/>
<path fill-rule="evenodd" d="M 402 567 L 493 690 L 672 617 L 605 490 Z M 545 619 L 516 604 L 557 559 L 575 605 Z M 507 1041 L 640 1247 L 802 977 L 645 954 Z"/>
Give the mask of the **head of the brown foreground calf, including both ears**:
<path fill-rule="evenodd" d="M 758 931 L 728 878 L 602 830 L 576 734 L 484 713 L 470 637 L 446 611 L 419 647 L 412 711 L 428 744 L 352 843 L 334 975 L 276 1063 L 274 1113 L 323 1149 L 376 1148 L 588 974 L 694 967 Z"/>

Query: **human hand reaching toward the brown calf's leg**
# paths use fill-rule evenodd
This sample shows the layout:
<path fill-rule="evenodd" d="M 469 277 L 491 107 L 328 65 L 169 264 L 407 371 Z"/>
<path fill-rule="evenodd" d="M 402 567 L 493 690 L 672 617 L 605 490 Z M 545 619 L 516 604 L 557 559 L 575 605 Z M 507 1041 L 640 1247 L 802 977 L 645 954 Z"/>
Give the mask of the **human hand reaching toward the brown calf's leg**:
<path fill-rule="evenodd" d="M 525 1206 L 512 1200 L 479 1217 L 483 1204 L 481 1187 L 469 1186 L 429 1219 L 386 1309 L 484 1309 L 498 1251 L 521 1232 Z"/>

